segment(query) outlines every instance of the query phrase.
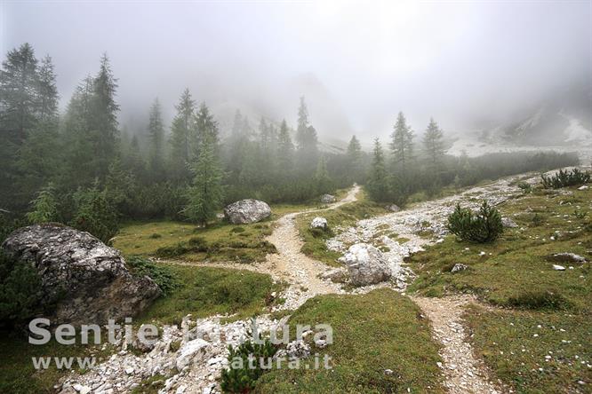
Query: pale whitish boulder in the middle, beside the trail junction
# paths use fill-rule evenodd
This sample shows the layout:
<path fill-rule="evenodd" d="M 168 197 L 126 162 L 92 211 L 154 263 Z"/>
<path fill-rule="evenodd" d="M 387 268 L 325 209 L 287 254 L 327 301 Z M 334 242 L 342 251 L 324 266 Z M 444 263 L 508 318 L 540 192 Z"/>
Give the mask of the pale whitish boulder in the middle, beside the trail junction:
<path fill-rule="evenodd" d="M 348 267 L 351 283 L 354 286 L 366 286 L 388 280 L 391 270 L 387 258 L 379 249 L 366 243 L 356 243 L 348 253 L 340 258 Z"/>

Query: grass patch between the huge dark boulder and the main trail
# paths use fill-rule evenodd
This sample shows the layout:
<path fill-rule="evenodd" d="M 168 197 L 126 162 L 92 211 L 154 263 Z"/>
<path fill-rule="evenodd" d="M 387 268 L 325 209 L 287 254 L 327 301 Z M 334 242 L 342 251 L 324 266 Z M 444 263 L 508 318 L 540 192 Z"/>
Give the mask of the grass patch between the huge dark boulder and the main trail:
<path fill-rule="evenodd" d="M 194 318 L 214 314 L 236 314 L 236 319 L 265 311 L 271 293 L 281 285 L 269 275 L 246 270 L 229 270 L 191 265 L 159 264 L 170 269 L 180 284 L 161 297 L 134 322 L 157 321 L 179 324 L 191 313 Z"/>

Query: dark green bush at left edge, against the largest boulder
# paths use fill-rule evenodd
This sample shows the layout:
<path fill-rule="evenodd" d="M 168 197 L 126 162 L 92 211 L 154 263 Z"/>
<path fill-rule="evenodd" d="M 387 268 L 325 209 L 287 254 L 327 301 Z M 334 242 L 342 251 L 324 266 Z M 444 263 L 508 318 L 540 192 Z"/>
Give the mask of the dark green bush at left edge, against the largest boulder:
<path fill-rule="evenodd" d="M 41 279 L 30 264 L 0 251 L 0 327 L 19 325 L 41 311 Z"/>

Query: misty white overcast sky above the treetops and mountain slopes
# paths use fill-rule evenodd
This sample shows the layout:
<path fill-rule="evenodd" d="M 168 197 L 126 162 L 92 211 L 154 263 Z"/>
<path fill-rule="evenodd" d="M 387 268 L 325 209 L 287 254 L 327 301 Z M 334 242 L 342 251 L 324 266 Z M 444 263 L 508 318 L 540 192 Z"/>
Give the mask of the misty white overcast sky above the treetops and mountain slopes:
<path fill-rule="evenodd" d="M 292 124 L 305 95 L 322 136 L 385 136 L 400 110 L 463 130 L 592 75 L 590 1 L 0 1 L 3 57 L 49 53 L 64 105 L 108 52 L 123 122 L 187 86 Z"/>

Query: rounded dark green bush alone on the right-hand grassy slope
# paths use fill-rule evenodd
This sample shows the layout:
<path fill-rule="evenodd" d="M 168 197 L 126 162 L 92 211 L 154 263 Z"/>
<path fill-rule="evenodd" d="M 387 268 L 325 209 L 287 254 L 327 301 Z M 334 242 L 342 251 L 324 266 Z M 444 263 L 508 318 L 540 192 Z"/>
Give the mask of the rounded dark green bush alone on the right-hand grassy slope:
<path fill-rule="evenodd" d="M 460 208 L 457 204 L 454 212 L 448 217 L 448 230 L 462 240 L 471 242 L 491 242 L 503 232 L 500 212 L 483 202 L 478 212 Z"/>

